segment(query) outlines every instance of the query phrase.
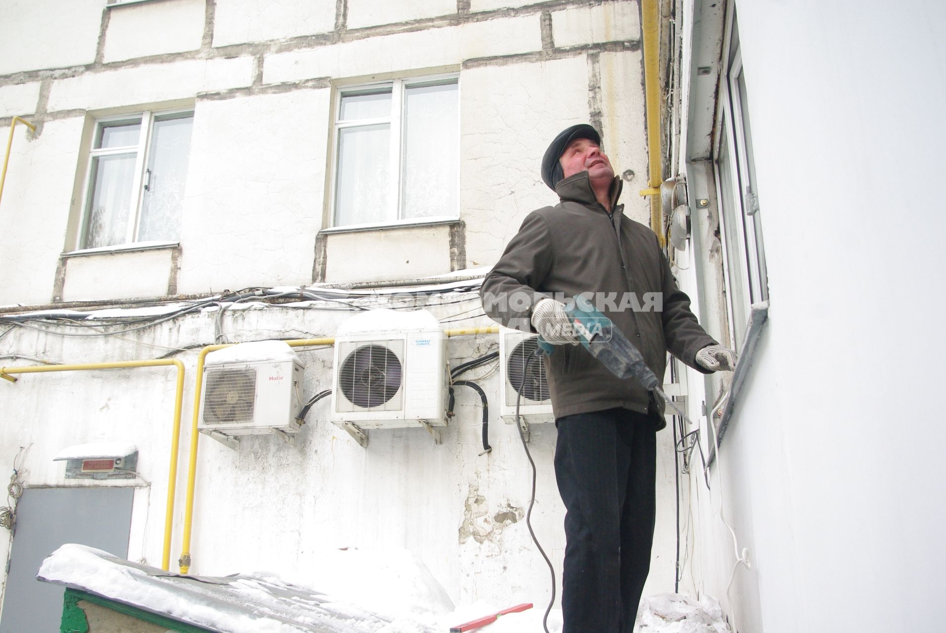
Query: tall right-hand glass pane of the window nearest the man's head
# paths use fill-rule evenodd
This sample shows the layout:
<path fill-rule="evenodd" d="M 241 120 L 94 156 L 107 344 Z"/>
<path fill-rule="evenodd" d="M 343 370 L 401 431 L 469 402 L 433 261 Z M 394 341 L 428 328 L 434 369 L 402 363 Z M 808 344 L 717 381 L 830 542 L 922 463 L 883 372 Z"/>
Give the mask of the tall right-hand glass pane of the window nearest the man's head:
<path fill-rule="evenodd" d="M 405 91 L 402 218 L 456 213 L 457 92 L 456 83 Z"/>

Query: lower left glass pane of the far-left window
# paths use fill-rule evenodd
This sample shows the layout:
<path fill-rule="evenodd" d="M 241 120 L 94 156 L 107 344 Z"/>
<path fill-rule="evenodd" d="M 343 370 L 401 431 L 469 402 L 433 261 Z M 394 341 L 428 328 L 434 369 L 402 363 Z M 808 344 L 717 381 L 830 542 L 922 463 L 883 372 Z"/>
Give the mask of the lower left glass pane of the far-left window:
<path fill-rule="evenodd" d="M 92 200 L 86 248 L 114 246 L 128 240 L 135 154 L 96 156 L 92 165 Z"/>

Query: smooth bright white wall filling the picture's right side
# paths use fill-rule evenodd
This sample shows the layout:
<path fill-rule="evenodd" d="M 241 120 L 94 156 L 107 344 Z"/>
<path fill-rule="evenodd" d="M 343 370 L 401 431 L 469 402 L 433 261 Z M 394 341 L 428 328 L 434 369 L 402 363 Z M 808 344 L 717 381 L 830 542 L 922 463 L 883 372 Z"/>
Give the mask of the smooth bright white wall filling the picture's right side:
<path fill-rule="evenodd" d="M 946 167 L 946 12 L 736 7 L 771 305 L 713 496 L 691 481 L 693 582 L 741 630 L 933 630 L 946 503 L 922 455 L 946 431 L 935 399 L 926 413 L 912 398 L 937 393 L 944 257 L 924 237 L 944 222 L 886 184 Z M 728 598 L 719 488 L 752 565 Z"/>

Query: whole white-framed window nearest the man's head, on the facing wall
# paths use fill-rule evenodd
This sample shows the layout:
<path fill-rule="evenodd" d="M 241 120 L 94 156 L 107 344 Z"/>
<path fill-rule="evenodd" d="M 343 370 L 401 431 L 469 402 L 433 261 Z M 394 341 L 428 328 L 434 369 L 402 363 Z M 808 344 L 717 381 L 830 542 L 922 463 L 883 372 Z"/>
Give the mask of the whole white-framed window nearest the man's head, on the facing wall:
<path fill-rule="evenodd" d="M 333 226 L 458 216 L 458 94 L 456 77 L 339 91 Z"/>

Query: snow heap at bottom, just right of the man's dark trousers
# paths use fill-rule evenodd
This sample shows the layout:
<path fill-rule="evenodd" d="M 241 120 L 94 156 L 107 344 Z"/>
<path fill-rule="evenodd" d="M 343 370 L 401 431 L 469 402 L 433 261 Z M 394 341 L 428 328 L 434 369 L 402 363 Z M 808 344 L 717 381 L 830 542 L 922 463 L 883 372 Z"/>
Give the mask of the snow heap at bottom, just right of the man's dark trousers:
<path fill-rule="evenodd" d="M 640 602 L 638 633 L 729 633 L 723 609 L 710 596 L 699 601 L 679 593 L 657 593 Z"/>

